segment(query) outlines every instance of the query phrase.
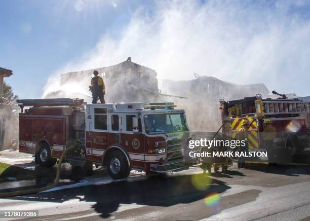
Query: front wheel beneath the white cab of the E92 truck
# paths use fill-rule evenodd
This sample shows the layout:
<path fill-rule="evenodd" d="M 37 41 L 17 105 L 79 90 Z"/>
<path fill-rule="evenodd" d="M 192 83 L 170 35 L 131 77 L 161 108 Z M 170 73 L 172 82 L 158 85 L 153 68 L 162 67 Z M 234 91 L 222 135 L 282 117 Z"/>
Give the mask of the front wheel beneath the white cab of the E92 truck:
<path fill-rule="evenodd" d="M 128 161 L 119 151 L 113 151 L 108 155 L 106 167 L 113 179 L 126 178 L 130 174 Z"/>

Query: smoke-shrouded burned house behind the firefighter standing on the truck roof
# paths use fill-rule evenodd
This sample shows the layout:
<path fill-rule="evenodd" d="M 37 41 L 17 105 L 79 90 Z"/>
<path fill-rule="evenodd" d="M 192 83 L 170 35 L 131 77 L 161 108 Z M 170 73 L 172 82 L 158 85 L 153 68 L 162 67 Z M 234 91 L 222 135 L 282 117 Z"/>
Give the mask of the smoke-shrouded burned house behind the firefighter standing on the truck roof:
<path fill-rule="evenodd" d="M 64 73 L 61 75 L 60 86 L 74 84 L 79 88 L 75 96 L 90 101 L 87 93 L 81 94 L 81 91 L 88 89 L 94 70 L 98 70 L 99 75 L 103 77 L 106 85 L 106 102 L 149 102 L 159 95 L 157 72 L 132 62 L 131 57 L 112 66 Z M 61 91 L 48 97 L 61 97 L 59 93 Z"/>

